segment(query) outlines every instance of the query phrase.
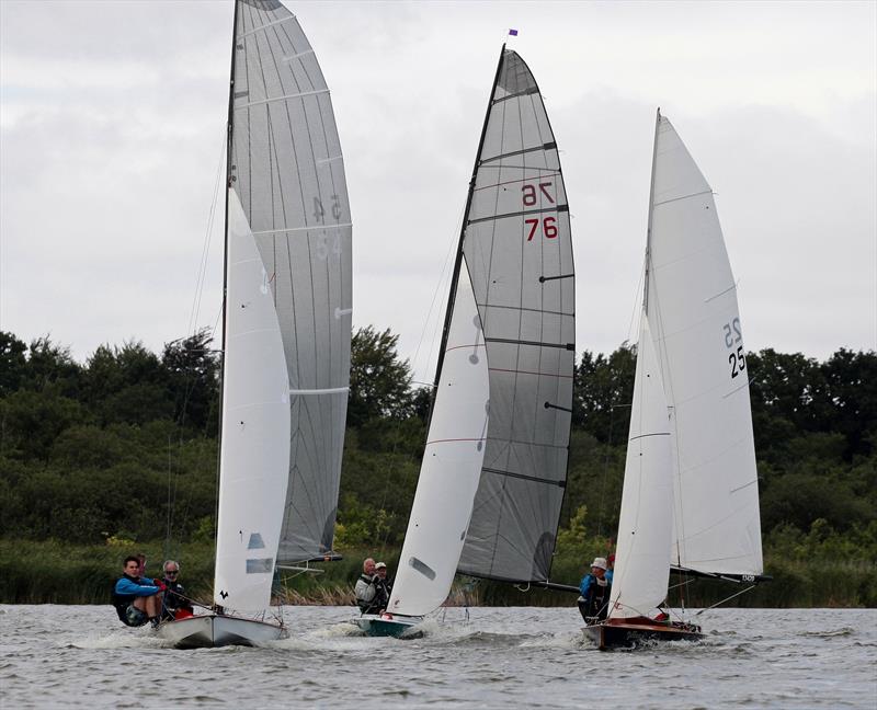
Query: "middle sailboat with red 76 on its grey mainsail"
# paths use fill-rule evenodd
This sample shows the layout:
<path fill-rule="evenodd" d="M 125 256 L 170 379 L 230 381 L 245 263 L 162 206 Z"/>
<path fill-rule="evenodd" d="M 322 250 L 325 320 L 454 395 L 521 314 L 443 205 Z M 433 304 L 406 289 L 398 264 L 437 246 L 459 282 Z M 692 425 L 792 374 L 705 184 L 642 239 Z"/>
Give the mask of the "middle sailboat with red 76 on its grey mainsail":
<path fill-rule="evenodd" d="M 456 571 L 547 579 L 566 484 L 576 293 L 558 148 L 527 65 L 503 45 L 451 283 L 399 570 L 371 635 L 413 633 Z"/>

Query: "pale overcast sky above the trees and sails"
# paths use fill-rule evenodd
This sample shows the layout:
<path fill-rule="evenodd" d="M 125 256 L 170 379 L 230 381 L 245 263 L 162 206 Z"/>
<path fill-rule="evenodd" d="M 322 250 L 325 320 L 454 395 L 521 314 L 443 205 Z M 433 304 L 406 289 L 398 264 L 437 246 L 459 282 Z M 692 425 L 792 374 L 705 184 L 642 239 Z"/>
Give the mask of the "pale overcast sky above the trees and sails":
<path fill-rule="evenodd" d="M 560 149 L 579 353 L 636 339 L 659 106 L 717 195 L 748 350 L 877 348 L 877 2 L 284 1 L 332 92 L 354 327 L 415 381 L 506 39 Z M 0 0 L 0 330 L 86 362 L 217 325 L 231 18 Z"/>

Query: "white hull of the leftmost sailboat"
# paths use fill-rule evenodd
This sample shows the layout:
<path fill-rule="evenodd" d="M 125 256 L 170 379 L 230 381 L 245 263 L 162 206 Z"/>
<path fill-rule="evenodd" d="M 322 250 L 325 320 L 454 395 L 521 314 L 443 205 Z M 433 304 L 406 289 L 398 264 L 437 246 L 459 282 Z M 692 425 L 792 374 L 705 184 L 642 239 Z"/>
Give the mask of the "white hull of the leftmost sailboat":
<path fill-rule="evenodd" d="M 255 645 L 286 638 L 286 629 L 275 623 L 215 614 L 167 621 L 156 633 L 178 649 Z"/>

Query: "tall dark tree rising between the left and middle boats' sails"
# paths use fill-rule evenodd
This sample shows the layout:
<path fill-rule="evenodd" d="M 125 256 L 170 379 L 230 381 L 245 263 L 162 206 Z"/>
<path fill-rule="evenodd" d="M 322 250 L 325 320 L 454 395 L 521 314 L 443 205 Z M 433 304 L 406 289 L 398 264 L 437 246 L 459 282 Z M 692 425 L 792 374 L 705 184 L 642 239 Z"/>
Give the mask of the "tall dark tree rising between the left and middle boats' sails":
<path fill-rule="evenodd" d="M 360 328 L 351 341 L 348 424 L 360 427 L 379 417 L 413 414 L 411 367 L 396 353 L 399 336 L 389 329 Z"/>

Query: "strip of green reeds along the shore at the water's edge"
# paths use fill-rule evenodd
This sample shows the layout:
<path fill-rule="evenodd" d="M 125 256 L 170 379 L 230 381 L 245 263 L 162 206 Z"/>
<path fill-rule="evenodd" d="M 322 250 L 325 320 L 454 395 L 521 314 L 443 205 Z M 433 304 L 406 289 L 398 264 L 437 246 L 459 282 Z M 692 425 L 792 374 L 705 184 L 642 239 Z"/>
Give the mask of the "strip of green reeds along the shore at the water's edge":
<path fill-rule="evenodd" d="M 176 546 L 170 552 L 161 543 L 71 546 L 59 541 L 0 540 L 0 603 L 2 604 L 109 604 L 113 584 L 122 573 L 125 556 L 144 552 L 147 574 L 159 576 L 161 563 L 181 563 L 180 581 L 192 598 L 209 603 L 213 583 L 213 546 Z M 310 572 L 278 576 L 276 602 L 287 605 L 353 606 L 353 585 L 365 557 L 383 559 L 392 576 L 398 550 L 350 550 L 339 562 L 318 563 Z M 586 562 L 556 559 L 553 580 L 577 585 Z M 773 581 L 732 599 L 734 607 L 877 607 L 877 562 L 874 560 L 789 561 L 765 557 L 765 572 Z M 702 608 L 740 591 L 733 584 L 692 580 L 684 585 L 687 607 Z M 569 606 L 576 595 L 535 587 L 457 577 L 447 606 Z"/>

